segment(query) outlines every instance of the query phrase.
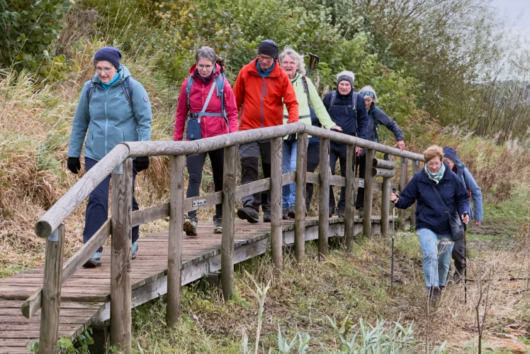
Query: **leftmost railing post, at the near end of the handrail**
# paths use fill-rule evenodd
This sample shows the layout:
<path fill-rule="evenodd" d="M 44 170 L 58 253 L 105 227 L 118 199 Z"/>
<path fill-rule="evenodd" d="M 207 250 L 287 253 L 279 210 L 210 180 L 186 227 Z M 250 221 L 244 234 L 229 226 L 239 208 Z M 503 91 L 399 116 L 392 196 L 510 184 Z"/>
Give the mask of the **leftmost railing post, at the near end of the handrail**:
<path fill-rule="evenodd" d="M 63 253 L 64 225 L 61 224 L 46 240 L 39 354 L 57 353 Z"/>

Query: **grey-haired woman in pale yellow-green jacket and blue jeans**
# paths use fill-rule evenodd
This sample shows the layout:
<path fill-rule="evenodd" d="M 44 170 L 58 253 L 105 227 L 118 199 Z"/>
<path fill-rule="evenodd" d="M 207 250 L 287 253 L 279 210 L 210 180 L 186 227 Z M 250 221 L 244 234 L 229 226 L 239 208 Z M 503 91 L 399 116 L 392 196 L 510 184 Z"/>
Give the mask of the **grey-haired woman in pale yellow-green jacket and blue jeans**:
<path fill-rule="evenodd" d="M 318 95 L 315 85 L 309 77 L 305 76 L 305 63 L 303 56 L 290 47 L 286 47 L 280 54 L 281 68 L 291 79 L 298 99 L 298 121 L 312 126 L 324 127 L 342 131 L 329 118 L 326 107 Z M 283 106 L 283 123 L 287 123 L 288 113 Z M 295 139 L 285 138 L 283 140 L 282 173 L 296 170 L 296 148 Z M 320 160 L 320 144 L 316 137 L 309 137 L 308 141 L 308 172 L 314 172 Z M 309 208 L 312 197 L 313 185 L 308 183 L 306 189 L 306 210 Z M 295 217 L 295 183 L 282 187 L 282 209 L 283 219 L 294 219 Z"/>

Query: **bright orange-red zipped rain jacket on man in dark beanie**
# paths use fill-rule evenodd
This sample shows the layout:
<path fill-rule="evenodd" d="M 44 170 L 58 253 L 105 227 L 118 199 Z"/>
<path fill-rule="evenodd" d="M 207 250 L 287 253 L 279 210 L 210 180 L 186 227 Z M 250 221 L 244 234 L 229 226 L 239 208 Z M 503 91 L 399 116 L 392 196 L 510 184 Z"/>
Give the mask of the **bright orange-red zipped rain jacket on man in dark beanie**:
<path fill-rule="evenodd" d="M 239 109 L 239 131 L 283 124 L 283 104 L 288 111 L 287 123 L 298 121 L 298 100 L 287 73 L 274 60 L 268 77 L 261 77 L 257 58 L 237 75 L 233 92 Z"/>

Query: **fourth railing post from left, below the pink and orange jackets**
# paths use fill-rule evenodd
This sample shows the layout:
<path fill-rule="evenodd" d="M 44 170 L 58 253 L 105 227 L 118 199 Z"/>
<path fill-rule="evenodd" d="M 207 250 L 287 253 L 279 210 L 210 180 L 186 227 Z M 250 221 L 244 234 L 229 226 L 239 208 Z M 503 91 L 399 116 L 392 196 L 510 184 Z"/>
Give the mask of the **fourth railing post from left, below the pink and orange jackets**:
<path fill-rule="evenodd" d="M 222 165 L 222 240 L 221 240 L 221 289 L 228 301 L 234 289 L 234 233 L 235 233 L 235 184 L 237 148 L 225 148 Z"/>

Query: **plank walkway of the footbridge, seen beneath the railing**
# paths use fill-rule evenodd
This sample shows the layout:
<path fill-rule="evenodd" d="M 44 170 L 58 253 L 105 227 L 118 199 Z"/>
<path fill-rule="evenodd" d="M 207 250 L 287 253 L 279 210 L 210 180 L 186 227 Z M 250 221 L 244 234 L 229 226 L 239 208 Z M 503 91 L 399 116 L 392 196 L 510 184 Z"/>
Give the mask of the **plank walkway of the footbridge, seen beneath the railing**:
<path fill-rule="evenodd" d="M 391 220 L 390 216 L 390 220 Z M 373 216 L 373 232 L 378 233 L 380 217 Z M 344 219 L 329 219 L 329 236 L 344 236 Z M 270 223 L 235 224 L 234 262 L 242 262 L 266 252 Z M 355 219 L 356 233 L 362 224 Z M 167 292 L 167 231 L 154 233 L 138 240 L 137 257 L 133 260 L 131 284 L 133 306 L 143 304 Z M 318 238 L 317 218 L 306 219 L 306 240 Z M 294 241 L 294 221 L 283 222 L 283 243 Z M 221 234 L 213 233 L 212 223 L 199 223 L 198 236 L 184 235 L 182 284 L 200 279 L 220 270 Z M 74 339 L 92 323 L 110 316 L 111 248 L 101 255 L 102 265 L 81 268 L 62 287 L 60 336 Z M 32 319 L 22 315 L 21 305 L 43 284 L 43 268 L 0 279 L 0 353 L 29 353 L 27 343 L 38 341 L 40 310 Z"/>

